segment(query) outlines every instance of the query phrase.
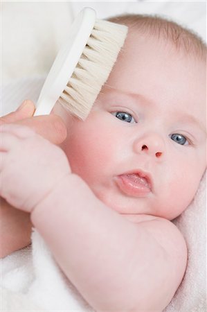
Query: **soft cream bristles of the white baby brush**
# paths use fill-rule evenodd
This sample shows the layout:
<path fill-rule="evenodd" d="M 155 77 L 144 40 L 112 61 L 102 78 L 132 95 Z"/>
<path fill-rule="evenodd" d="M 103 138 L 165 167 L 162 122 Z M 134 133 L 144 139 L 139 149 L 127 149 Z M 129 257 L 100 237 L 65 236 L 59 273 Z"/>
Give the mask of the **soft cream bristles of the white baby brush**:
<path fill-rule="evenodd" d="M 91 36 L 59 102 L 84 120 L 106 82 L 125 42 L 127 27 L 96 20 Z"/>

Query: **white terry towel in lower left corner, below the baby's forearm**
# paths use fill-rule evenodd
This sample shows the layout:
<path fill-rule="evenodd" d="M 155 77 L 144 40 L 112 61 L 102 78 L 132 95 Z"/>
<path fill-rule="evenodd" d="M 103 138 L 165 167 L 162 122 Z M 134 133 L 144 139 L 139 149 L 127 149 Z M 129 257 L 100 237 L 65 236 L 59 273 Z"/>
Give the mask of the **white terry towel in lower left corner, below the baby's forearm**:
<path fill-rule="evenodd" d="M 1 311 L 93 312 L 34 230 L 32 247 L 1 259 Z"/>

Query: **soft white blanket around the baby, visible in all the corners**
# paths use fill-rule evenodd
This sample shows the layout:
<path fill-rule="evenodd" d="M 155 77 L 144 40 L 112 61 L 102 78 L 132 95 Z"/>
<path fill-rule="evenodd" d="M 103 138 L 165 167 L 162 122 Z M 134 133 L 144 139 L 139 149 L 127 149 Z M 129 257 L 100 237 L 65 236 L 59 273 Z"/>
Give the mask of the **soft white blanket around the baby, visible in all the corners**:
<path fill-rule="evenodd" d="M 2 83 L 8 87 L 3 91 L 2 115 L 24 98 L 37 100 L 43 83 L 39 77 L 46 76 L 73 17 L 83 6 L 95 8 L 100 18 L 123 12 L 164 15 L 206 40 L 206 1 L 3 1 Z M 16 78 L 21 81 L 17 83 Z M 174 223 L 188 243 L 188 268 L 165 312 L 204 312 L 206 176 L 195 200 Z M 33 235 L 33 250 L 29 247 L 1 260 L 1 286 L 1 311 L 92 311 L 64 279 L 37 233 Z"/>

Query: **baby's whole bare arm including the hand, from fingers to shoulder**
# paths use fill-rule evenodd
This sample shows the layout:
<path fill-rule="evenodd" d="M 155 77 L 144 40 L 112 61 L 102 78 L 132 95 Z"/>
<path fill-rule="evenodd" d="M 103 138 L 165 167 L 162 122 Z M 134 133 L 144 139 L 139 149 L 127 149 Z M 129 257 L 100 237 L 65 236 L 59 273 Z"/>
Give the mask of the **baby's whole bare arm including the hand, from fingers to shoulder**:
<path fill-rule="evenodd" d="M 1 186 L 1 196 L 32 211 L 57 263 L 93 309 L 163 310 L 186 267 L 177 228 L 153 216 L 130 222 L 70 173 L 60 148 L 22 128 L 5 132 L 1 182 L 10 186 Z"/>

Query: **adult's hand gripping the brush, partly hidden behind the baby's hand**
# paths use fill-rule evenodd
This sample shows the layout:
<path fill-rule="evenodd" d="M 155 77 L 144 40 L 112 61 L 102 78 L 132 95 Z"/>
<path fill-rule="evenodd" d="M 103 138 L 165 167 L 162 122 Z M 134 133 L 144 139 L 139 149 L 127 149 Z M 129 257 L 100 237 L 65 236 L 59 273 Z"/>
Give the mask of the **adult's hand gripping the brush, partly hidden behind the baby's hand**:
<path fill-rule="evenodd" d="M 34 112 L 35 104 L 26 100 L 15 112 L 2 116 L 0 124 L 27 125 L 53 144 L 61 144 L 66 139 L 66 127 L 60 116 L 50 114 L 34 118 Z M 3 258 L 30 244 L 32 224 L 29 214 L 25 211 L 18 211 L 1 197 L 0 218 L 0 258 Z"/>

